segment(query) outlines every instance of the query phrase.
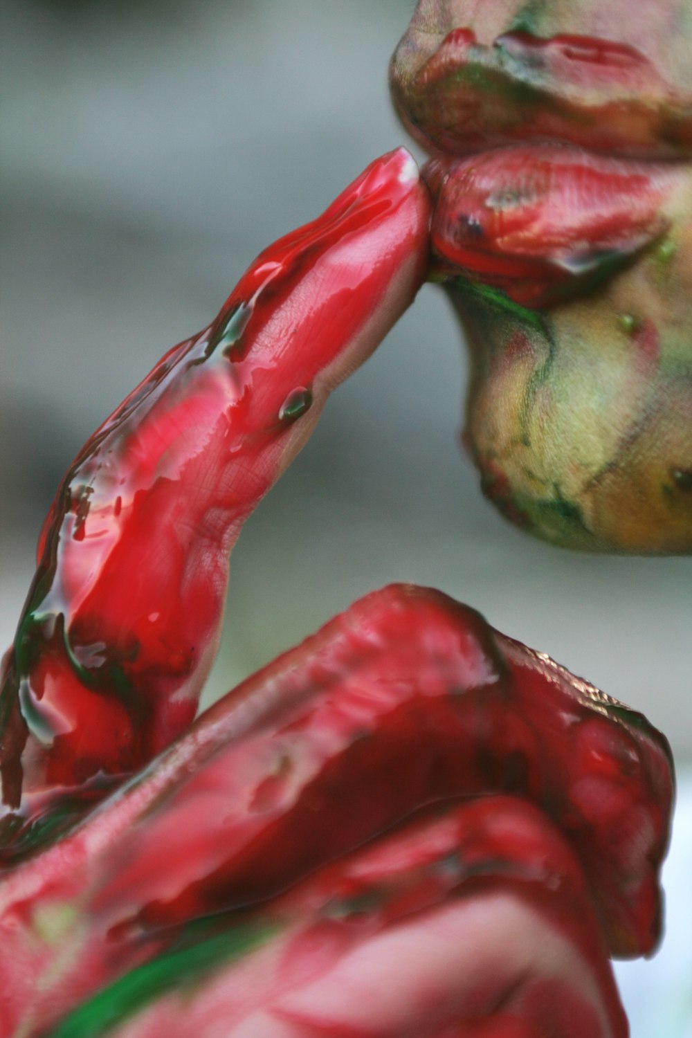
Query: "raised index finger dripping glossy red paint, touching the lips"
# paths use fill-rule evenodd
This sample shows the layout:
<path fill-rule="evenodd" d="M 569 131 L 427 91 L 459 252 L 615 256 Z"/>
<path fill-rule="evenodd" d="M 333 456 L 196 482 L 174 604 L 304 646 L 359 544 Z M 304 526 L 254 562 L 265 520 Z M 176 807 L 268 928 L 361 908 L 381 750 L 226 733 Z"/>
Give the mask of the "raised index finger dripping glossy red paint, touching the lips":
<path fill-rule="evenodd" d="M 219 317 L 176 346 L 67 471 L 5 658 L 5 811 L 141 767 L 192 720 L 228 554 L 333 386 L 424 275 L 430 202 L 403 148 L 262 252 Z M 33 798 L 33 799 L 32 799 Z M 7 826 L 9 838 L 16 822 Z"/>

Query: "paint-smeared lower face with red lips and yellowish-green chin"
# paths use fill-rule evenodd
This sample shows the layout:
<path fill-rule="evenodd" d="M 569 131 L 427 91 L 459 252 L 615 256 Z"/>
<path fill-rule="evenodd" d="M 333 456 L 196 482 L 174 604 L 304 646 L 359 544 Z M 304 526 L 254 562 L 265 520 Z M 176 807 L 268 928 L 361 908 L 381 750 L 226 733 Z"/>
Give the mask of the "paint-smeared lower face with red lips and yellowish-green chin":
<path fill-rule="evenodd" d="M 555 544 L 692 550 L 690 0 L 420 0 L 396 108 L 487 496 Z"/>

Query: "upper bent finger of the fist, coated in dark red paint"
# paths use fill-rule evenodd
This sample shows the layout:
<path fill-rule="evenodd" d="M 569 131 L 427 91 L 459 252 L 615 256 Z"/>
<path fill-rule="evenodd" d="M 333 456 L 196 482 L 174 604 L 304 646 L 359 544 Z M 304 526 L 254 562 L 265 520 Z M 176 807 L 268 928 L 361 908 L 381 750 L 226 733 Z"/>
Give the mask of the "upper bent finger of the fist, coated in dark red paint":
<path fill-rule="evenodd" d="M 109 904 L 135 926 L 243 904 L 430 800 L 507 791 L 570 832 L 611 950 L 649 951 L 672 795 L 665 741 L 633 712 L 609 721 L 592 686 L 498 638 L 435 592 L 356 603 L 237 689 L 262 703 L 261 721 L 198 759 L 145 827 L 131 822 L 122 859 L 109 859 Z M 223 810 L 201 810 L 211 791 Z"/>

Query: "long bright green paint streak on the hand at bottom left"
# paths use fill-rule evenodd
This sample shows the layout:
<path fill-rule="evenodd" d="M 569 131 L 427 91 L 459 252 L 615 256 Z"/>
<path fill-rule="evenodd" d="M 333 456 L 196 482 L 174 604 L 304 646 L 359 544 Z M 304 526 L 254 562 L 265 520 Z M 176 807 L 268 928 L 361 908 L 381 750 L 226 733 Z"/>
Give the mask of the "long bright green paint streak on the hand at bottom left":
<path fill-rule="evenodd" d="M 47 1038 L 100 1038 L 174 988 L 189 991 L 217 967 L 262 945 L 276 929 L 267 923 L 234 926 L 191 947 L 159 955 L 81 1005 Z"/>

